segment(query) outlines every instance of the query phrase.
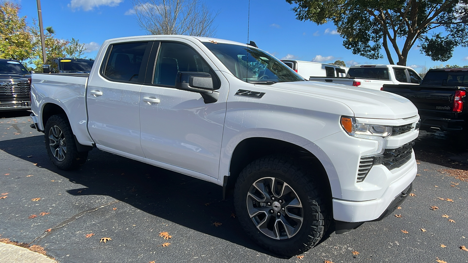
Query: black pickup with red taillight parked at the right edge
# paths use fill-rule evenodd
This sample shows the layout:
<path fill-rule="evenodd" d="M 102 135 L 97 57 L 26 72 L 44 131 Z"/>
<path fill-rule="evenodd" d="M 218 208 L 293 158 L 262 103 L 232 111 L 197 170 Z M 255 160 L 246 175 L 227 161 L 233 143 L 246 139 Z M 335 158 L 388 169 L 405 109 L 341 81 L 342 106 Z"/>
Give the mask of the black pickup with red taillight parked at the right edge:
<path fill-rule="evenodd" d="M 424 131 L 468 132 L 468 68 L 429 70 L 420 85 L 383 85 L 416 106 Z"/>

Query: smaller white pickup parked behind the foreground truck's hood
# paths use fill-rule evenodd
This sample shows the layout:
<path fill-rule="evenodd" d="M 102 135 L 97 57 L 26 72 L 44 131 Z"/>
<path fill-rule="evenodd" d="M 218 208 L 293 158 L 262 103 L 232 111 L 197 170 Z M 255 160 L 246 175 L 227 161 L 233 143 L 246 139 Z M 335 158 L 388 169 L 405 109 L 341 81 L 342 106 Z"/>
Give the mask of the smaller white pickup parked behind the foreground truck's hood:
<path fill-rule="evenodd" d="M 311 76 L 309 80 L 381 90 L 384 84 L 418 85 L 422 78 L 409 66 L 356 65 L 350 66 L 343 78 Z"/>

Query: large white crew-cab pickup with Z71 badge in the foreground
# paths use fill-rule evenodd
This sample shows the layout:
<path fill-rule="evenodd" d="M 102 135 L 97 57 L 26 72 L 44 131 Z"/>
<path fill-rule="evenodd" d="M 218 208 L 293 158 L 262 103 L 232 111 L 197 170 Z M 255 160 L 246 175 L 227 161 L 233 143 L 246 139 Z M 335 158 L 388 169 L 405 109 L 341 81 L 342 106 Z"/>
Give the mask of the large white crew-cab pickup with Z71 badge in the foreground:
<path fill-rule="evenodd" d="M 111 39 L 90 74 L 33 74 L 31 97 L 57 167 L 96 147 L 216 183 L 277 254 L 311 248 L 332 220 L 344 233 L 382 219 L 417 172 L 409 100 L 306 81 L 254 44 Z"/>

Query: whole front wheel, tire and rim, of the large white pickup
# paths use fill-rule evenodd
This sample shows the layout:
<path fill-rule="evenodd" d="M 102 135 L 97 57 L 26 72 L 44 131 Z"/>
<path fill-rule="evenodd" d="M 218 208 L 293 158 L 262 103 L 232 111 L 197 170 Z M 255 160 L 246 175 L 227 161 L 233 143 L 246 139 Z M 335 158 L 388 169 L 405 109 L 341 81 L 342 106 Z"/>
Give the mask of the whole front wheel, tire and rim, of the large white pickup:
<path fill-rule="evenodd" d="M 271 155 L 245 167 L 234 189 L 234 206 L 247 234 L 284 256 L 316 245 L 331 221 L 323 185 L 298 162 Z"/>

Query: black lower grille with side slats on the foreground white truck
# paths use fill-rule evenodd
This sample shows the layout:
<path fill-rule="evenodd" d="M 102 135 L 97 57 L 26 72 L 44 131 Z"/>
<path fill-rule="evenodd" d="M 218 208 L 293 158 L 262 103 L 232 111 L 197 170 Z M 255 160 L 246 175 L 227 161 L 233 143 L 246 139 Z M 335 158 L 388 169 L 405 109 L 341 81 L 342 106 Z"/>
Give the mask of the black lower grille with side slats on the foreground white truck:
<path fill-rule="evenodd" d="M 362 182 L 369 170 L 377 164 L 383 164 L 388 170 L 402 167 L 411 159 L 414 141 L 400 146 L 396 149 L 385 149 L 383 154 L 377 156 L 361 157 L 359 161 L 358 178 L 356 182 Z"/>

